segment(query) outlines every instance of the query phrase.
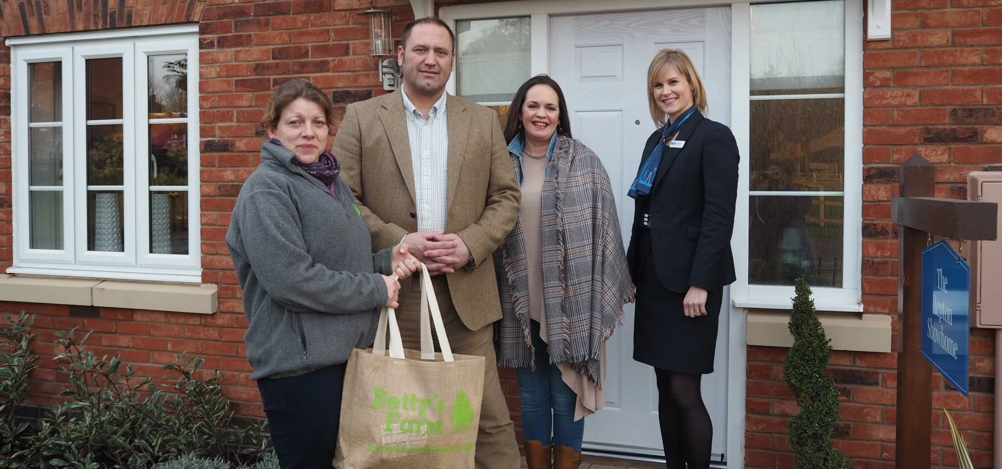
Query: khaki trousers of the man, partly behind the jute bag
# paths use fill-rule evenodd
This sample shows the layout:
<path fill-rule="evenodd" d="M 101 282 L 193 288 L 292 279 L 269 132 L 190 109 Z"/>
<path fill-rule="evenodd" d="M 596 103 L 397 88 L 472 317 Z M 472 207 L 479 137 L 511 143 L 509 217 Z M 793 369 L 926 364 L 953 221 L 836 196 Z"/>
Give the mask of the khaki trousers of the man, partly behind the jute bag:
<path fill-rule="evenodd" d="M 403 284 L 410 283 L 410 288 Z M 460 355 L 484 357 L 484 399 L 481 403 L 480 429 L 477 433 L 475 454 L 476 469 L 519 469 L 521 455 L 515 441 L 515 424 L 511 421 L 508 403 L 498 379 L 497 356 L 494 353 L 494 326 L 488 325 L 470 331 L 456 313 L 449 295 L 449 284 L 444 276 L 432 277 L 432 286 L 442 310 L 442 322 L 452 352 Z M 411 278 L 402 283 L 400 308 L 397 321 L 403 336 L 404 348 L 421 350 L 421 283 Z M 406 293 L 405 293 L 406 291 Z M 432 326 L 432 336 L 435 335 Z M 435 349 L 439 350 L 438 338 Z"/>

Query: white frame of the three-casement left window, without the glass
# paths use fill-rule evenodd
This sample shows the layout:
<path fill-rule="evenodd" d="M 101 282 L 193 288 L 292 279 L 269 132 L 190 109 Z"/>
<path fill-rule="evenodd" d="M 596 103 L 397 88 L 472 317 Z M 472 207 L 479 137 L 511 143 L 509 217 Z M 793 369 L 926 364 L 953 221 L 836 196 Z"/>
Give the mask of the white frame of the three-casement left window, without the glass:
<path fill-rule="evenodd" d="M 54 34 L 8 39 L 12 63 L 12 178 L 14 266 L 10 274 L 115 280 L 201 283 L 197 25 Z M 187 247 L 186 255 L 148 254 L 149 55 L 186 54 L 187 60 Z M 122 58 L 123 252 L 87 251 L 85 60 Z M 59 61 L 62 67 L 63 250 L 33 250 L 30 243 L 28 64 Z M 139 69 L 137 67 L 143 67 Z M 129 101 L 132 101 L 131 103 Z M 141 119 L 137 119 L 141 117 Z M 178 119 L 180 120 L 180 119 Z M 23 124 L 21 122 L 24 122 Z M 117 123 L 117 120 L 114 122 Z M 143 158 L 145 161 L 145 158 Z M 80 166 L 83 166 L 82 168 Z M 116 186 L 117 187 L 117 186 Z M 118 190 L 116 188 L 115 190 Z M 145 251 L 143 251 L 145 250 Z"/>

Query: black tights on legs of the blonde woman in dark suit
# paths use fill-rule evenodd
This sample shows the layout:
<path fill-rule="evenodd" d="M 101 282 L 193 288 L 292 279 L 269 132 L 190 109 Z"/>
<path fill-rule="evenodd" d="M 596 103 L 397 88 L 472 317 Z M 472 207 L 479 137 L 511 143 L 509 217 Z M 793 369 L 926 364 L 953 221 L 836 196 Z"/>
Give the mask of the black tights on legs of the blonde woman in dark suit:
<path fill-rule="evenodd" d="M 668 469 L 709 469 L 713 424 L 702 402 L 702 375 L 654 369 L 657 413 Z M 688 466 L 686 466 L 686 463 Z"/>

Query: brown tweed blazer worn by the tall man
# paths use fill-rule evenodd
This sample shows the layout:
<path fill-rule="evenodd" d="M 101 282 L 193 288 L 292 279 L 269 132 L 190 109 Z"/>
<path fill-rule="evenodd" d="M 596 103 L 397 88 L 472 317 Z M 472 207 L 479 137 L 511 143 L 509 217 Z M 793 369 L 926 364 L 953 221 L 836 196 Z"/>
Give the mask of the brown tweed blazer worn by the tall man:
<path fill-rule="evenodd" d="M 411 144 L 401 91 L 348 105 L 334 140 L 341 177 L 359 199 L 382 250 L 418 229 Z M 472 331 L 501 319 L 493 253 L 515 225 L 521 193 L 497 114 L 459 96 L 446 100 L 449 157 L 446 232 L 476 262 L 447 274 L 449 293 Z M 403 293 L 403 292 L 402 292 Z"/>

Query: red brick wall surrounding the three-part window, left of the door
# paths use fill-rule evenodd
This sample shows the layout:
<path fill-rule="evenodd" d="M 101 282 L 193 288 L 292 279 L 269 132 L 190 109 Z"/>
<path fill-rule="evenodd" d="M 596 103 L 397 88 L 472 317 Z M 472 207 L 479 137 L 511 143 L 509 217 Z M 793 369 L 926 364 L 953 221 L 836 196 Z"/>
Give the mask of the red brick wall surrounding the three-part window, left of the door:
<path fill-rule="evenodd" d="M 95 331 L 88 344 L 98 355 L 120 354 L 139 376 L 166 378 L 160 365 L 180 352 L 206 359 L 205 369 L 220 370 L 225 394 L 245 415 L 261 416 L 257 385 L 247 379 L 243 331 L 246 320 L 236 275 L 225 244 L 230 211 L 241 182 L 257 166 L 264 133 L 256 122 L 272 90 L 286 80 L 307 78 L 331 93 L 338 118 L 351 102 L 382 94 L 376 60 L 369 51 L 369 18 L 361 14 L 371 0 L 120 0 L 108 10 L 65 12 L 35 2 L 0 4 L 6 37 L 109 27 L 199 22 L 199 118 L 201 121 L 202 282 L 218 286 L 219 313 L 211 316 L 154 311 L 70 308 L 62 305 L 0 302 L 0 314 L 39 315 L 35 350 L 47 356 L 32 382 L 31 404 L 50 405 L 62 390 L 51 360 L 60 351 L 55 333 L 70 328 Z M 73 3 L 73 2 L 53 2 Z M 92 7 L 87 4 L 87 7 Z M 413 19 L 407 0 L 380 1 L 396 11 L 399 37 Z M 62 5 L 58 8 L 66 7 Z M 21 9 L 27 12 L 22 20 Z M 56 10 L 58 10 L 56 8 Z M 124 13 L 121 13 L 124 12 Z M 183 15 L 182 15 L 183 14 Z M 178 16 L 181 15 L 181 16 Z M 126 18 L 125 21 L 121 18 Z M 13 255 L 10 209 L 10 53 L 0 37 L 0 269 Z M 518 417 L 514 375 L 503 372 L 502 386 Z"/>

